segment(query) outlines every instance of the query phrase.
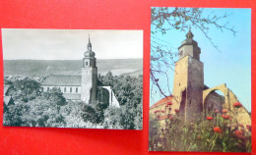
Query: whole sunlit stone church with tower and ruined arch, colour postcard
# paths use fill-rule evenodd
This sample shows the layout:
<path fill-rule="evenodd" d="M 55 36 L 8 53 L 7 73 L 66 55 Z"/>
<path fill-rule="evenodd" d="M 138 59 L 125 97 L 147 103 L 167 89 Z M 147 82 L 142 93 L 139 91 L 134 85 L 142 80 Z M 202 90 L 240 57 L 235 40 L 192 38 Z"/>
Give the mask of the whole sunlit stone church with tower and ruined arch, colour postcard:
<path fill-rule="evenodd" d="M 193 37 L 194 34 L 189 29 L 186 39 L 178 47 L 172 94 L 152 105 L 150 115 L 158 116 L 160 124 L 164 125 L 165 120 L 175 115 L 175 112 L 179 112 L 184 121 L 193 121 L 200 113 L 207 116 L 213 111 L 222 112 L 227 109 L 230 113 L 235 111 L 233 117 L 239 124 L 251 125 L 248 111 L 243 106 L 239 109 L 233 107 L 239 101 L 225 83 L 212 88 L 205 85 L 204 63 L 200 61 L 201 48 Z M 216 90 L 224 95 L 215 92 Z"/>

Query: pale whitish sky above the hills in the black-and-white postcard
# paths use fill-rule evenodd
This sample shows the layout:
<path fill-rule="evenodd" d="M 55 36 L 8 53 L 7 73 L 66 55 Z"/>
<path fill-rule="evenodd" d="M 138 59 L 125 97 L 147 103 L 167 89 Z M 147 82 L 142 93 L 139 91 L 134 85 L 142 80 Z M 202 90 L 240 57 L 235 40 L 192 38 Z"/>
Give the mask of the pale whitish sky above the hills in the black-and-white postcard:
<path fill-rule="evenodd" d="M 143 30 L 2 28 L 4 60 L 80 60 L 89 34 L 97 59 L 143 58 Z"/>

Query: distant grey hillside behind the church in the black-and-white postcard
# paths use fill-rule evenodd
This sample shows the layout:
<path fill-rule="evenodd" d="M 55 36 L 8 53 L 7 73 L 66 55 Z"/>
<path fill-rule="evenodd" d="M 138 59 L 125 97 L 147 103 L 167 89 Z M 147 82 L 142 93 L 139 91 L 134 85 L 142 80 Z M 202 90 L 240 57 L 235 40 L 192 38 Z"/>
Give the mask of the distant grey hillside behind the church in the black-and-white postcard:
<path fill-rule="evenodd" d="M 101 75 L 109 71 L 113 75 L 138 76 L 143 73 L 142 59 L 98 59 L 96 63 L 97 73 Z M 5 76 L 78 75 L 81 67 L 82 60 L 4 60 Z"/>

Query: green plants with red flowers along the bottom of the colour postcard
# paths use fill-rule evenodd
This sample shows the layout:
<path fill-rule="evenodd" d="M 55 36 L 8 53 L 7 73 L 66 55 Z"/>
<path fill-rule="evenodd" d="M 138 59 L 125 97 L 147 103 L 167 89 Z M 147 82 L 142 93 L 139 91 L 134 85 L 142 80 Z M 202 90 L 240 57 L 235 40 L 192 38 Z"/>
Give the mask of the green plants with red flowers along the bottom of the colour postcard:
<path fill-rule="evenodd" d="M 201 115 L 201 118 L 203 115 Z M 156 131 L 156 118 L 151 118 L 150 145 L 161 151 L 250 152 L 251 129 L 238 125 L 235 119 L 218 113 L 212 119 L 184 122 L 177 114 Z M 155 128 L 153 127 L 155 126 Z"/>

